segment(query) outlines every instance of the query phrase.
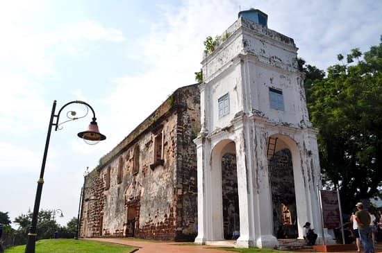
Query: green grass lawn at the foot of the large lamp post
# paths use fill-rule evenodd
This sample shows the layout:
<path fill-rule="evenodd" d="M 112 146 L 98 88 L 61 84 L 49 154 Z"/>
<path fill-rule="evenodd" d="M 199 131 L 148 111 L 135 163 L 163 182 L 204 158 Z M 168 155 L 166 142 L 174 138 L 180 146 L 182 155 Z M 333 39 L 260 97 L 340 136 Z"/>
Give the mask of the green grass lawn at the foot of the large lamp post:
<path fill-rule="evenodd" d="M 25 245 L 10 247 L 5 253 L 24 253 Z M 135 247 L 74 239 L 51 239 L 36 242 L 36 253 L 128 253 Z"/>

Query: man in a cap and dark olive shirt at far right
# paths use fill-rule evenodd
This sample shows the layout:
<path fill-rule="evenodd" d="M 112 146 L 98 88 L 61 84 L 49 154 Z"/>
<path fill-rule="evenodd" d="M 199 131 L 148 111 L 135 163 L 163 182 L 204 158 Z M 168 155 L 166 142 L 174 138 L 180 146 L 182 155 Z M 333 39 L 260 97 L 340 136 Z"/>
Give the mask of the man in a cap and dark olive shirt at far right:
<path fill-rule="evenodd" d="M 374 253 L 374 245 L 372 241 L 372 229 L 370 229 L 370 213 L 363 209 L 363 203 L 356 204 L 358 211 L 356 211 L 356 221 L 358 224 L 358 232 L 360 234 L 360 241 L 363 245 L 364 253 Z"/>

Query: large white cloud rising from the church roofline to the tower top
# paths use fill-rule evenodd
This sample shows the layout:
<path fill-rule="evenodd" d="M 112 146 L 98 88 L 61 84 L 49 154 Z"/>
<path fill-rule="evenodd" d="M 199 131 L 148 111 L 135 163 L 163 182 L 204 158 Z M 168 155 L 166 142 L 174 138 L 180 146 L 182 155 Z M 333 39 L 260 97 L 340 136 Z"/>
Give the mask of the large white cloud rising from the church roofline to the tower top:
<path fill-rule="evenodd" d="M 140 74 L 112 80 L 112 91 L 104 100 L 99 119 L 107 119 L 113 127 L 110 127 L 113 136 L 108 140 L 108 151 L 178 87 L 196 82 L 194 72 L 201 68 L 203 41 L 208 35 L 223 33 L 233 24 L 235 16 L 227 17 L 236 7 L 235 3 L 226 1 L 187 1 L 181 8 L 158 6 L 162 17 L 152 24 L 147 35 L 135 41 L 135 50 L 128 54 L 128 58 L 144 69 Z"/>

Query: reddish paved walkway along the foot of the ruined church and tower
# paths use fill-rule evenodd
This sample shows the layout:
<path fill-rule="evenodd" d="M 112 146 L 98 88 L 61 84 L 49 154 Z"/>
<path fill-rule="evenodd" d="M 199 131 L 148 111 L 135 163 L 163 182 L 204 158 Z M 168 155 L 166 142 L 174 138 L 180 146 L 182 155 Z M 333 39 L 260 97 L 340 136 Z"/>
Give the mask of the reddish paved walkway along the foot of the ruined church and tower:
<path fill-rule="evenodd" d="M 130 245 L 139 247 L 137 253 L 228 253 L 225 250 L 216 249 L 217 246 L 210 245 L 181 245 L 182 243 L 174 242 L 153 242 L 153 241 L 138 241 L 128 238 L 86 238 L 85 240 L 101 241 L 108 243 L 117 243 L 122 245 Z M 313 250 L 298 250 L 298 253 L 309 252 L 313 253 Z M 341 253 L 356 253 L 356 250 L 341 252 Z M 382 253 L 382 243 L 376 245 L 375 253 Z"/>

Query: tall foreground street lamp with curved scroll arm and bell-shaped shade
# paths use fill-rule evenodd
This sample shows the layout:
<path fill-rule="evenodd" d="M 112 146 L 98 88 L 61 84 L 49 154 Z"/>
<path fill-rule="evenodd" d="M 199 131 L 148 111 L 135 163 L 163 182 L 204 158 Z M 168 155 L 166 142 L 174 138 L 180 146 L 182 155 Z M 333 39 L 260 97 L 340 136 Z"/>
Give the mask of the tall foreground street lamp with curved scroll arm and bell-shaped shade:
<path fill-rule="evenodd" d="M 85 107 L 87 109 L 90 108 L 90 110 L 92 110 L 93 118 L 92 118 L 92 122 L 90 122 L 88 130 L 86 130 L 84 132 L 79 132 L 77 134 L 78 137 L 84 139 L 84 141 L 94 141 L 94 142 L 103 141 L 104 139 L 106 139 L 106 136 L 99 132 L 98 126 L 97 126 L 97 118 L 95 116 L 94 110 L 88 103 L 85 103 L 83 101 L 72 101 L 72 102 L 69 102 L 69 103 L 66 103 L 65 105 L 63 105 L 63 107 L 61 107 L 61 109 L 58 111 L 58 114 L 55 114 L 56 103 L 57 103 L 57 101 L 53 101 L 53 105 L 52 105 L 52 109 L 51 109 L 51 117 L 49 120 L 47 140 L 45 142 L 44 155 L 42 157 L 40 178 L 38 179 L 38 186 L 37 186 L 36 195 L 35 195 L 35 204 L 33 207 L 32 223 L 31 223 L 31 227 L 29 228 L 28 241 L 26 242 L 25 253 L 35 253 L 35 241 L 36 241 L 36 237 L 37 237 L 36 227 L 37 227 L 37 221 L 38 221 L 38 211 L 40 209 L 42 185 L 44 184 L 45 162 L 47 162 L 47 153 L 48 153 L 48 148 L 49 148 L 49 140 L 51 137 L 51 129 L 54 125 L 55 131 L 58 130 L 58 125 L 59 125 L 58 121 L 60 119 L 60 113 L 63 111 L 63 109 L 65 107 L 67 107 L 67 105 L 71 105 L 74 103 L 85 105 Z M 74 121 L 76 119 L 82 119 L 83 117 L 85 117 L 88 114 L 88 113 L 86 113 L 85 116 L 76 117 L 76 112 L 70 111 L 70 113 L 71 113 L 71 115 L 69 116 L 67 114 L 67 116 L 71 121 Z M 56 119 L 56 121 L 54 121 L 55 119 Z M 67 121 L 65 121 L 65 122 L 67 122 Z M 63 123 L 65 123 L 65 122 L 63 122 Z"/>

